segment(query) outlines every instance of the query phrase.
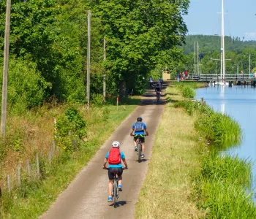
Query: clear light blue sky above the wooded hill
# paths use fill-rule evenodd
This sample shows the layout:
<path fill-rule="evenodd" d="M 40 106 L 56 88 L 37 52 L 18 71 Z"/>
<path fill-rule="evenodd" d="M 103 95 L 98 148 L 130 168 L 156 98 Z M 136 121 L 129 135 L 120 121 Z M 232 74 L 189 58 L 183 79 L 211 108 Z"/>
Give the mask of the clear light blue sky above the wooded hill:
<path fill-rule="evenodd" d="M 221 34 L 221 0 L 190 0 L 189 34 Z M 256 0 L 225 0 L 225 35 L 256 40 Z"/>

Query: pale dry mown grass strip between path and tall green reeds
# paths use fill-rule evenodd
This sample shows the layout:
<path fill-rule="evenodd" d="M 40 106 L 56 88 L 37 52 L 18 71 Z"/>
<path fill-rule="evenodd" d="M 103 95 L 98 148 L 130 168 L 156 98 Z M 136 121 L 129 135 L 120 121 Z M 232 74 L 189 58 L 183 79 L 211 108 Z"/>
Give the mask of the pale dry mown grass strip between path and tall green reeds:
<path fill-rule="evenodd" d="M 183 99 L 167 88 L 170 102 Z M 154 142 L 148 174 L 136 205 L 136 218 L 200 218 L 189 201 L 192 177 L 200 172 L 200 146 L 194 120 L 167 104 Z"/>

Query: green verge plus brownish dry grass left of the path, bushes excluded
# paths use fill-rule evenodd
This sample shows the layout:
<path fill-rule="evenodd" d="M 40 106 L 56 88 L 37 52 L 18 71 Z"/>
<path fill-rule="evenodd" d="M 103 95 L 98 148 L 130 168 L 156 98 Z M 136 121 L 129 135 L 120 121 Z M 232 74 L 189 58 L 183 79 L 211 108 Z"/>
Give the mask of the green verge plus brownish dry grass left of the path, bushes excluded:
<path fill-rule="evenodd" d="M 20 118 L 10 118 L 10 130 L 22 129 L 20 139 L 23 140 L 23 150 L 14 151 L 10 142 L 8 155 L 1 161 L 1 166 L 6 165 L 6 169 L 0 170 L 0 185 L 3 185 L 6 180 L 6 174 L 13 172 L 15 176 L 17 169 L 15 166 L 19 162 L 23 164 L 21 169 L 26 170 L 26 159 L 34 158 L 34 152 L 41 150 L 42 157 L 47 157 L 48 147 L 53 140 L 54 118 L 65 110 L 65 107 L 60 106 L 54 109 L 45 109 L 43 112 L 28 113 Z M 37 218 L 42 212 L 48 210 L 50 204 L 55 201 L 56 197 L 67 188 L 67 185 L 74 179 L 75 175 L 86 166 L 94 154 L 99 150 L 99 147 L 110 137 L 116 127 L 127 116 L 135 110 L 137 106 L 126 105 L 125 109 L 121 108 L 117 111 L 116 106 L 107 106 L 109 110 L 108 119 L 102 112 L 103 108 L 91 108 L 87 111 L 84 107 L 78 107 L 87 125 L 87 141 L 85 147 L 80 147 L 80 150 L 75 151 L 70 155 L 69 159 L 56 158 L 51 166 L 45 166 L 47 171 L 46 178 L 41 181 L 35 181 L 29 186 L 22 184 L 22 188 L 12 190 L 11 196 L 4 193 L 0 215 L 2 218 Z M 13 120 L 13 122 L 12 122 Z M 26 137 L 26 127 L 33 127 L 35 130 L 33 137 Z M 23 138 L 22 138 L 23 137 Z M 12 165 L 8 165 L 12 164 Z M 8 172 L 7 172 L 8 171 Z M 12 180 L 11 176 L 11 180 Z M 1 218 L 0 217 L 0 218 Z"/>

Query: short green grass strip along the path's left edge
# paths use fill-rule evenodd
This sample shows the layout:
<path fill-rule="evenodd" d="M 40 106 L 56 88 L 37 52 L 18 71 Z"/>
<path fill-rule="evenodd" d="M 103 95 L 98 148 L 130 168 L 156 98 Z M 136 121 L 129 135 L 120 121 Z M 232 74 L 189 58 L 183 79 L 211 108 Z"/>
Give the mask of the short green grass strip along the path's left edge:
<path fill-rule="evenodd" d="M 137 102 L 136 99 L 135 102 Z M 84 107 L 80 108 L 87 125 L 86 144 L 69 155 L 67 159 L 56 158 L 53 164 L 45 169 L 45 179 L 24 183 L 21 188 L 13 190 L 11 194 L 4 192 L 1 197 L 1 217 L 38 218 L 42 212 L 48 210 L 59 193 L 67 188 L 80 169 L 88 164 L 103 142 L 136 107 L 135 104 L 125 105 L 116 110 L 115 106 L 108 106 L 106 107 L 109 111 L 107 119 L 104 113 L 102 114 L 102 110 L 97 107 L 89 112 Z M 63 109 L 58 113 L 54 112 L 54 115 L 60 112 L 63 112 Z M 48 111 L 47 115 L 50 113 L 53 112 Z M 48 129 L 53 131 L 53 128 Z"/>

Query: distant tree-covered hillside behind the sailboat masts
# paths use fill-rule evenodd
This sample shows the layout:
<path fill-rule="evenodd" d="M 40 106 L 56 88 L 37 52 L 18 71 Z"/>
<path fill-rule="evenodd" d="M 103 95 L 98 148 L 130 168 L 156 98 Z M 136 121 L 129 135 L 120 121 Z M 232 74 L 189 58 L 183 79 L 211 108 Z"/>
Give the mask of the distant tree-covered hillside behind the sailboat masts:
<path fill-rule="evenodd" d="M 205 35 L 189 35 L 186 37 L 186 45 L 182 48 L 184 50 L 184 62 L 178 64 L 178 71 L 189 70 L 194 72 L 194 51 L 195 42 L 199 43 L 199 60 L 200 73 L 202 74 L 219 74 L 220 61 L 213 59 L 220 59 L 220 42 L 219 36 L 205 36 Z M 230 59 L 226 61 L 226 73 L 237 74 L 243 71 L 249 74 L 249 55 L 251 56 L 251 72 L 256 67 L 256 42 L 244 41 L 238 37 L 225 37 L 225 58 Z"/>

